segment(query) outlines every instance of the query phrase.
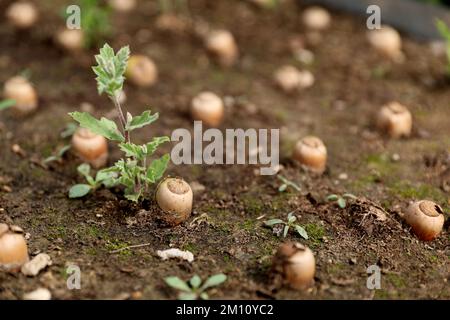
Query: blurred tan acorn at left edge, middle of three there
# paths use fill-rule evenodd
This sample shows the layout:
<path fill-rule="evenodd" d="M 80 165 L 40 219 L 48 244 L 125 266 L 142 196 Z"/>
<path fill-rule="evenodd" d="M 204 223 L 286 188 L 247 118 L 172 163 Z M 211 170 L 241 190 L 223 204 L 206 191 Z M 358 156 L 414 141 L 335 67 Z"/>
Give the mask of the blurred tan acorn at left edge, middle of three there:
<path fill-rule="evenodd" d="M 3 95 L 12 99 L 15 104 L 11 110 L 16 115 L 27 115 L 38 106 L 38 97 L 33 85 L 24 77 L 16 76 L 5 82 Z"/>

